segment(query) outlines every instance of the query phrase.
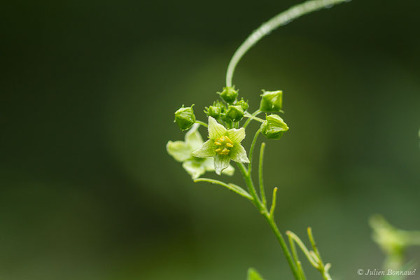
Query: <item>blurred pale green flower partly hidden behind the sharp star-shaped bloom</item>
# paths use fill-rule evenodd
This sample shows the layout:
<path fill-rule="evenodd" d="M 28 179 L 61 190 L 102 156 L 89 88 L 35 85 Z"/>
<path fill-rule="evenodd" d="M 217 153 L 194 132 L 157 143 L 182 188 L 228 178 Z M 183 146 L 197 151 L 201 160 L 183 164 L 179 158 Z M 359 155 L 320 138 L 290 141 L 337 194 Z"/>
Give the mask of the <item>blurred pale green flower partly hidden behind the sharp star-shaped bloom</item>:
<path fill-rule="evenodd" d="M 197 150 L 204 143 L 200 133 L 197 131 L 197 123 L 191 127 L 186 134 L 186 141 L 169 141 L 167 144 L 167 152 L 172 155 L 177 162 L 182 162 L 183 169 L 191 175 L 193 179 L 197 179 L 205 172 L 214 172 L 214 162 L 212 158 L 196 158 L 191 153 Z M 232 176 L 235 168 L 231 165 L 223 171 L 223 174 Z"/>

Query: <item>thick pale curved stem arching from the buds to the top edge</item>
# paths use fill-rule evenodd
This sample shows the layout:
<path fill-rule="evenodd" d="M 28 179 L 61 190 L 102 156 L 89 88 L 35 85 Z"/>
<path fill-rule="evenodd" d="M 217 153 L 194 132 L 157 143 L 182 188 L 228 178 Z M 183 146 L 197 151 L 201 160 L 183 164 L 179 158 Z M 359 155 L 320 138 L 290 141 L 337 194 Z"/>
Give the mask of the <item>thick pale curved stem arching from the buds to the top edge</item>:
<path fill-rule="evenodd" d="M 304 3 L 300 3 L 296 6 L 289 8 L 288 10 L 284 11 L 283 13 L 279 13 L 278 15 L 274 16 L 274 18 L 270 19 L 269 21 L 263 23 L 258 29 L 253 31 L 253 33 L 246 38 L 244 43 L 242 43 L 235 54 L 230 59 L 228 71 L 226 71 L 226 85 L 228 87 L 232 86 L 232 78 L 233 73 L 235 71 L 235 67 L 237 66 L 239 60 L 245 55 L 245 53 L 255 45 L 258 41 L 261 40 L 262 37 L 270 34 L 274 29 L 280 27 L 281 25 L 286 25 L 288 22 L 299 18 L 302 15 L 307 13 L 311 13 L 315 10 L 319 10 L 321 8 L 329 8 L 332 5 L 342 3 L 348 0 L 311 0 L 306 1 Z"/>

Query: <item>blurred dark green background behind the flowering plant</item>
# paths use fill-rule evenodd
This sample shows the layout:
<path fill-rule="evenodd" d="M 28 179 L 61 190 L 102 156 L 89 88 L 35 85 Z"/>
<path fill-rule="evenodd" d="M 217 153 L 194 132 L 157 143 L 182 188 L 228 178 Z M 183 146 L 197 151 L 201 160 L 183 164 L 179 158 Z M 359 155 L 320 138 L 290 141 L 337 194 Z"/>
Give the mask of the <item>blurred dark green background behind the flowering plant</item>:
<path fill-rule="evenodd" d="M 290 279 L 252 205 L 193 183 L 165 144 L 183 139 L 174 111 L 195 104 L 204 120 L 237 46 L 296 3 L 3 3 L 0 278 Z M 371 214 L 420 229 L 419 9 L 354 0 L 306 15 L 235 73 L 251 111 L 262 88 L 283 90 L 290 130 L 267 141 L 266 188 L 279 187 L 282 232 L 314 229 L 334 279 L 381 267 Z"/>

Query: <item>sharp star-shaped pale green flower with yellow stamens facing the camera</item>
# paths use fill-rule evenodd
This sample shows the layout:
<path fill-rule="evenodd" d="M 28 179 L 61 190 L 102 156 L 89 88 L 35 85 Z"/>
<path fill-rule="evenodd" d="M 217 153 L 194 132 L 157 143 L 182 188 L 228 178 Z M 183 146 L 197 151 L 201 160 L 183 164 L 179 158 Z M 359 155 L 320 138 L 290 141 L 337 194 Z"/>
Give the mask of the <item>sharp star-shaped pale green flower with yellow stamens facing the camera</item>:
<path fill-rule="evenodd" d="M 197 158 L 214 158 L 214 169 L 218 175 L 228 168 L 230 160 L 249 162 L 241 141 L 245 138 L 244 127 L 227 130 L 214 118 L 209 117 L 209 140 L 193 152 Z"/>

